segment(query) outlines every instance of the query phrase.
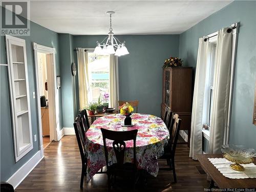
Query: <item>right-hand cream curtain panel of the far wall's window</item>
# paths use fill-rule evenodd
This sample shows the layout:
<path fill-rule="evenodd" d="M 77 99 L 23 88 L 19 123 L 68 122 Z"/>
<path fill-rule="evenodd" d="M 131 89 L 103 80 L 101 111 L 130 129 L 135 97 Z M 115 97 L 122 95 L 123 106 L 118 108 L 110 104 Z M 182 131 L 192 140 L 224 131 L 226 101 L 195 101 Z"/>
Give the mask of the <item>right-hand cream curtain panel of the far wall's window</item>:
<path fill-rule="evenodd" d="M 110 55 L 110 100 L 109 108 L 118 109 L 118 57 Z"/>

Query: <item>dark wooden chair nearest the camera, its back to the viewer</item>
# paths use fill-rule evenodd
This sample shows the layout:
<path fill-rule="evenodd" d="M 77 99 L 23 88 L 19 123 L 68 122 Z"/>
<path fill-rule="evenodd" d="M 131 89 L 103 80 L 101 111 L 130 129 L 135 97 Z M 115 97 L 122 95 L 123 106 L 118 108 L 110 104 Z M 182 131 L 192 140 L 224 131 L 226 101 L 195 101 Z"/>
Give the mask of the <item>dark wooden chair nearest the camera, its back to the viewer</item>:
<path fill-rule="evenodd" d="M 111 181 L 116 178 L 116 176 L 132 176 L 134 178 L 134 185 L 136 183 L 136 137 L 138 130 L 132 131 L 110 131 L 105 129 L 100 129 L 103 137 L 104 153 L 106 160 L 106 174 L 108 175 L 108 190 L 111 190 Z M 109 165 L 109 152 L 106 146 L 106 139 L 113 141 L 112 146 L 116 155 L 117 163 Z M 133 163 L 124 163 L 124 155 L 126 145 L 124 141 L 133 140 Z"/>

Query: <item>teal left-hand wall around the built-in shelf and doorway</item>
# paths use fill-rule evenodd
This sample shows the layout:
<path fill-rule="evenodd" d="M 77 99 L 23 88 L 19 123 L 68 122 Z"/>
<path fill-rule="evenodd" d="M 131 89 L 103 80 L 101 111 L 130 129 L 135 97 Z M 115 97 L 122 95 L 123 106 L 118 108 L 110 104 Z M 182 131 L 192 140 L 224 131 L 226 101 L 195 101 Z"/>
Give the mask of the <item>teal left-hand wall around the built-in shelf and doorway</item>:
<path fill-rule="evenodd" d="M 1 8 L 1 7 L 0 7 Z M 1 10 L 1 9 L 0 9 Z M 1 14 L 1 13 L 0 13 Z M 31 123 L 32 135 L 37 135 L 37 141 L 33 142 L 33 150 L 26 156 L 20 159 L 17 163 L 14 162 L 14 148 L 12 139 L 12 123 L 11 123 L 11 107 L 9 100 L 9 87 L 8 87 L 8 71 L 7 67 L 0 67 L 0 105 L 1 105 L 1 181 L 6 181 L 10 178 L 24 163 L 26 163 L 38 150 L 39 150 L 39 132 L 37 122 L 37 106 L 36 100 L 32 97 L 32 92 L 36 90 L 36 83 L 34 78 L 34 59 L 32 42 L 37 42 L 40 45 L 55 47 L 56 48 L 56 75 L 60 75 L 59 66 L 59 49 L 58 49 L 58 34 L 41 27 L 33 22 L 30 23 L 31 35 L 18 36 L 26 40 L 27 61 L 28 61 L 28 78 L 29 78 L 29 91 L 30 91 L 30 108 L 31 108 Z M 7 63 L 5 54 L 5 41 L 4 36 L 0 36 L 0 62 Z M 61 89 L 59 92 L 59 101 L 61 103 Z M 59 105 L 59 118 L 60 127 L 62 127 L 62 108 Z"/>

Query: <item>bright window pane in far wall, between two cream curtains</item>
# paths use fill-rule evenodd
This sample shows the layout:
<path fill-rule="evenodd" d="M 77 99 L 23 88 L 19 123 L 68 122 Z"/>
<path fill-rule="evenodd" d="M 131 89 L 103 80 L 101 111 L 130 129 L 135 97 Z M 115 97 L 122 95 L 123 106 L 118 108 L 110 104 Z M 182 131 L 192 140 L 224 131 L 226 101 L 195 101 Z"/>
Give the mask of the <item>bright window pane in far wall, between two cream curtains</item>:
<path fill-rule="evenodd" d="M 88 53 L 89 102 L 97 102 L 99 96 L 109 93 L 110 56 Z"/>

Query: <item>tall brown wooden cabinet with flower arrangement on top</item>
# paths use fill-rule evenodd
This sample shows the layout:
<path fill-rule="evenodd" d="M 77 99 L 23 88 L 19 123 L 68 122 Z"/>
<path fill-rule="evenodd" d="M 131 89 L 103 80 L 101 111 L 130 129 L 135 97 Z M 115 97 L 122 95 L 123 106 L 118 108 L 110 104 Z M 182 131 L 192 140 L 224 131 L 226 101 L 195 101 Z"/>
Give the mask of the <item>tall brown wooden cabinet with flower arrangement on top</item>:
<path fill-rule="evenodd" d="M 188 131 L 188 145 L 191 129 L 192 67 L 163 69 L 161 118 L 166 106 L 182 119 L 180 130 Z"/>

